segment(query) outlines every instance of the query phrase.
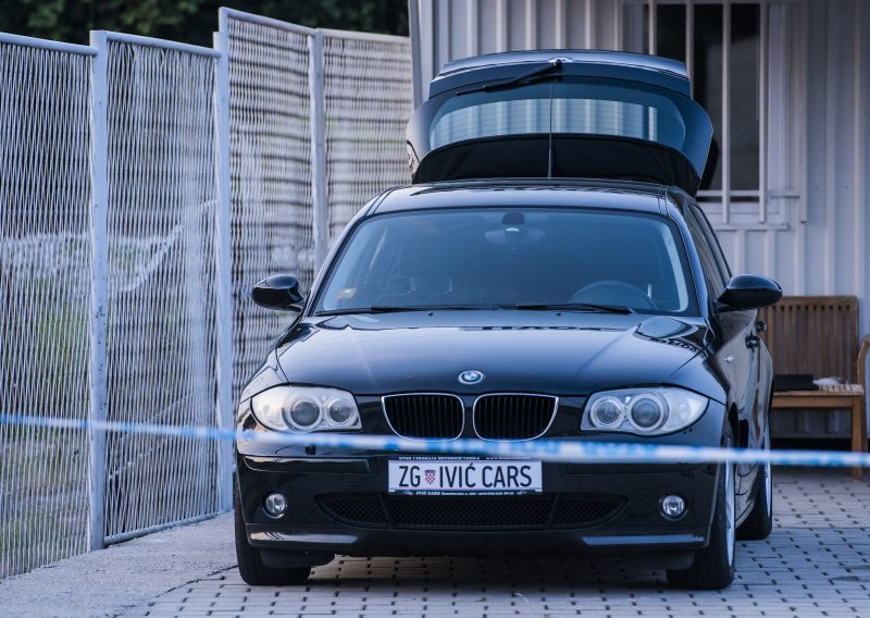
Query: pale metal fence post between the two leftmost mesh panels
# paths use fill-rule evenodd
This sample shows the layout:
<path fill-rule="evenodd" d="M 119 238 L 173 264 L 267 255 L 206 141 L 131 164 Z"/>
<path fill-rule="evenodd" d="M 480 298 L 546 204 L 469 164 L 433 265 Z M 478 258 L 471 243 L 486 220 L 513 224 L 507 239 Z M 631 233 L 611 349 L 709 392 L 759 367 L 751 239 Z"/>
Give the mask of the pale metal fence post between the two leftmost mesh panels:
<path fill-rule="evenodd" d="M 105 432 L 95 428 L 107 419 L 107 330 L 109 311 L 109 45 L 105 33 L 91 32 L 97 49 L 91 77 L 91 209 L 90 209 L 90 409 L 88 411 L 88 546 L 105 545 Z"/>

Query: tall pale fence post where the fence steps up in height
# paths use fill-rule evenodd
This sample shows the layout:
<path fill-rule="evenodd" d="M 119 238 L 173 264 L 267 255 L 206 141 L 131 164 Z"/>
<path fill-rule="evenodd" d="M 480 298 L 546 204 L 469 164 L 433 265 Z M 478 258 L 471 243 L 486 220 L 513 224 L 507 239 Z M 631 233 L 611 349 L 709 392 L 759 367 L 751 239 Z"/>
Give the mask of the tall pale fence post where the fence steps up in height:
<path fill-rule="evenodd" d="M 219 13 L 219 32 L 214 48 L 221 52 L 214 81 L 214 119 L 217 151 L 215 181 L 217 184 L 217 217 L 215 221 L 216 289 L 217 289 L 217 400 L 219 429 L 232 430 L 233 412 L 233 203 L 232 162 L 229 153 L 229 24 L 226 12 Z M 233 508 L 233 443 L 219 443 L 217 500 L 221 510 Z"/>

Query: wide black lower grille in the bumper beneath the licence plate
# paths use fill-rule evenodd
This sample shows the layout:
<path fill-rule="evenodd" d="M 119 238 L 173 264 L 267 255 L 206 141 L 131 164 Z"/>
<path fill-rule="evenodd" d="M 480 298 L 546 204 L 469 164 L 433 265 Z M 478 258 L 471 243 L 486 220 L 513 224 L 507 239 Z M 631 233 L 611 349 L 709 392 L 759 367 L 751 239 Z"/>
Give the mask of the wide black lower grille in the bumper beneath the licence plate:
<path fill-rule="evenodd" d="M 326 515 L 360 528 L 400 530 L 548 530 L 587 528 L 612 519 L 621 496 L 538 494 L 527 496 L 396 496 L 389 494 L 318 497 Z"/>

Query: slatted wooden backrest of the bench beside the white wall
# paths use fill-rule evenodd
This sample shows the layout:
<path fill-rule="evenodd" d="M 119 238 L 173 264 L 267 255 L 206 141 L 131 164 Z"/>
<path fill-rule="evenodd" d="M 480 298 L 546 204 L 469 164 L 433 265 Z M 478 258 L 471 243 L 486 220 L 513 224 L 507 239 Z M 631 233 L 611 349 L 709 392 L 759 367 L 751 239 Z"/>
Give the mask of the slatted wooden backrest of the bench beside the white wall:
<path fill-rule="evenodd" d="M 852 382 L 858 349 L 855 296 L 787 296 L 762 309 L 776 373 L 811 373 Z"/>

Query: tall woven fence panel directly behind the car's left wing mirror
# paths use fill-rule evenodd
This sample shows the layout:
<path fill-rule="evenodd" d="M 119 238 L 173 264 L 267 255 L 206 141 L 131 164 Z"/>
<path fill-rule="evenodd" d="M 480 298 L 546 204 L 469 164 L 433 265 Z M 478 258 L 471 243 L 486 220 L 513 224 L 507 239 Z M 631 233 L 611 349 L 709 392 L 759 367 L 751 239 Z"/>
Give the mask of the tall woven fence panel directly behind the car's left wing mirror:
<path fill-rule="evenodd" d="M 250 288 L 270 272 L 291 272 L 307 289 L 316 267 L 310 33 L 221 12 L 229 59 L 235 394 L 286 321 L 275 311 L 251 311 Z"/>

